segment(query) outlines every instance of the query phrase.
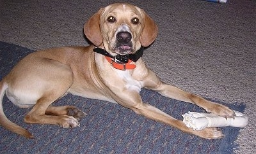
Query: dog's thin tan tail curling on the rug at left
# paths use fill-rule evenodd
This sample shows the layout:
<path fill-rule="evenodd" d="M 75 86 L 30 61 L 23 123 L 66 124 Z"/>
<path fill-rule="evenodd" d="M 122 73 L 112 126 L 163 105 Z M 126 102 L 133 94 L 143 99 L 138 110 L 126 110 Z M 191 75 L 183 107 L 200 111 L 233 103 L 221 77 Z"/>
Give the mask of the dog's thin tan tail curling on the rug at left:
<path fill-rule="evenodd" d="M 6 115 L 4 115 L 4 110 L 3 110 L 3 97 L 8 88 L 8 85 L 4 83 L 4 81 L 0 81 L 0 125 L 2 125 L 5 129 L 11 130 L 12 132 L 15 132 L 17 134 L 20 134 L 24 137 L 27 138 L 34 138 L 28 130 L 23 129 L 19 125 L 11 122 L 8 120 Z"/>

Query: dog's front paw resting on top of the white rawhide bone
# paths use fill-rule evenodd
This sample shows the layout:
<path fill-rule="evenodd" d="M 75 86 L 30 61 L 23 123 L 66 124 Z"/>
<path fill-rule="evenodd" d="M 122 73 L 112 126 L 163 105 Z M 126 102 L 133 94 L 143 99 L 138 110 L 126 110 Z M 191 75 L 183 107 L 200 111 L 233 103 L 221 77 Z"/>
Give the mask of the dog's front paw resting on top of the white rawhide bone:
<path fill-rule="evenodd" d="M 216 115 L 222 116 L 224 118 L 234 118 L 236 116 L 232 109 L 218 103 L 212 104 L 211 108 L 206 109 L 206 111 L 209 113 L 214 113 Z"/>

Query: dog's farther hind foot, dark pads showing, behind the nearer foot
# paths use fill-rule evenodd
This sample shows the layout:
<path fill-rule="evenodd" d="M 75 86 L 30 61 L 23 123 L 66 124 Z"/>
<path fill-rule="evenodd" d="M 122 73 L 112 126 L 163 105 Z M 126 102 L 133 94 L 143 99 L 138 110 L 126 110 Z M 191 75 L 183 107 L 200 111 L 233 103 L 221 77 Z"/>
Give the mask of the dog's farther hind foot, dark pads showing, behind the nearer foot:
<path fill-rule="evenodd" d="M 86 116 L 86 113 L 77 109 L 75 106 L 49 106 L 45 111 L 45 115 L 68 115 L 73 116 L 79 121 Z"/>

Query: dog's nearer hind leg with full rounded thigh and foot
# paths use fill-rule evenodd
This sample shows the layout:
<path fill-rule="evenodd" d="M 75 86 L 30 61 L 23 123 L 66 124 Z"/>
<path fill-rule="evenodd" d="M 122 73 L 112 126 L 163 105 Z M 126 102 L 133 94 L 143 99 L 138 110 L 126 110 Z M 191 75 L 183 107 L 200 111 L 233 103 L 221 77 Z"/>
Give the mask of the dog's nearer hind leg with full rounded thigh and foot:
<path fill-rule="evenodd" d="M 73 75 L 69 66 L 57 60 L 30 55 L 20 61 L 7 76 L 8 98 L 20 107 L 34 105 L 24 118 L 26 123 L 77 127 L 79 123 L 73 116 L 45 115 L 52 102 L 67 93 L 73 84 Z"/>

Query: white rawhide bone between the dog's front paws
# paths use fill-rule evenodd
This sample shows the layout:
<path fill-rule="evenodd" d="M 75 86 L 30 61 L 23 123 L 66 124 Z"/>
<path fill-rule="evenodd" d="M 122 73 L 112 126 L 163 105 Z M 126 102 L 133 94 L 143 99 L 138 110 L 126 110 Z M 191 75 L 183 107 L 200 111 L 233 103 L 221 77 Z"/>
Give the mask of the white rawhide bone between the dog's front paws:
<path fill-rule="evenodd" d="M 239 111 L 234 111 L 236 113 L 235 118 L 223 118 L 212 113 L 196 113 L 188 112 L 183 116 L 183 122 L 189 128 L 193 130 L 203 130 L 206 127 L 246 127 L 248 124 L 248 116 L 240 113 Z"/>

